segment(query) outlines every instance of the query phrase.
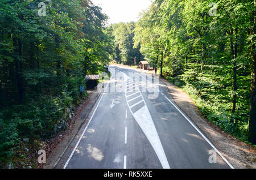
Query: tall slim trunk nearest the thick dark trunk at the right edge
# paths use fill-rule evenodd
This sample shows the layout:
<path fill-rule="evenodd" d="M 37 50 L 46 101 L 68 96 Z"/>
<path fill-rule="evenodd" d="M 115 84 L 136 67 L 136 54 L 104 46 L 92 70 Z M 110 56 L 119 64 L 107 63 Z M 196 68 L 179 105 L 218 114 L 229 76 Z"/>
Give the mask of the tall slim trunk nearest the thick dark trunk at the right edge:
<path fill-rule="evenodd" d="M 233 33 L 233 30 L 232 30 Z M 233 58 L 235 59 L 233 62 L 233 94 L 232 94 L 232 112 L 236 110 L 236 104 L 237 104 L 237 33 L 238 29 L 235 28 L 235 43 L 233 45 L 232 42 L 232 50 L 233 50 Z M 232 34 L 233 35 L 233 34 Z"/>

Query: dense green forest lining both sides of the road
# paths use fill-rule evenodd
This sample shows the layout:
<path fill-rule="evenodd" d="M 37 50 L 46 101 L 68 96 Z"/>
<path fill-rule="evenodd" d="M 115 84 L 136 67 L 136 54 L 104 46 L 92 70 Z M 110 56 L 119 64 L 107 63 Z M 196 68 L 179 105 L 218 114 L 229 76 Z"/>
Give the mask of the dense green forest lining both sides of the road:
<path fill-rule="evenodd" d="M 155 0 L 138 22 L 107 25 L 89 0 L 0 1 L 0 167 L 55 135 L 86 74 L 148 61 L 201 113 L 256 144 L 254 0 Z M 41 7 L 41 8 L 40 8 Z M 86 92 L 85 96 L 86 97 Z"/>

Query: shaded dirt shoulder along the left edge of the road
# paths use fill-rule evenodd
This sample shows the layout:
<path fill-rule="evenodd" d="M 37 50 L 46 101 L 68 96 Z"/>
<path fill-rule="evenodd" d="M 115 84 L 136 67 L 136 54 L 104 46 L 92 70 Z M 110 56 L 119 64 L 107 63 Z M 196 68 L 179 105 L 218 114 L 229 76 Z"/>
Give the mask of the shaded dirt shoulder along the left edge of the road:
<path fill-rule="evenodd" d="M 100 97 L 100 93 L 97 93 L 97 90 L 88 91 L 88 93 L 89 97 L 76 108 L 75 117 L 73 117 L 71 123 L 69 123 L 68 128 L 52 138 L 46 144 L 44 147 L 47 155 L 46 164 L 38 165 L 38 168 L 55 168 L 56 162 L 58 162 L 59 158 L 65 152 L 65 149 L 72 142 L 73 138 L 80 130 L 80 127 L 84 125 L 84 123 L 88 123 L 85 121 L 85 119 L 90 114 L 93 106 L 96 104 L 98 97 Z"/>

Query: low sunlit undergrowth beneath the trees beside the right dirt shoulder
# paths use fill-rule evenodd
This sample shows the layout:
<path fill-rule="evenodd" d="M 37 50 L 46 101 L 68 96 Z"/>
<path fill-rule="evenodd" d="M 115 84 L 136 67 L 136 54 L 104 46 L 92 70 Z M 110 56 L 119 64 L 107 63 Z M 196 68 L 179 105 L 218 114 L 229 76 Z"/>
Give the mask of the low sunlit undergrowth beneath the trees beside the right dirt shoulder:
<path fill-rule="evenodd" d="M 195 65 L 192 65 L 195 66 Z M 210 121 L 221 127 L 222 130 L 237 136 L 243 141 L 247 140 L 248 114 L 249 114 L 249 79 L 238 80 L 243 85 L 243 91 L 238 91 L 238 111 L 230 112 L 232 84 L 229 74 L 222 74 L 222 66 L 205 66 L 207 74 L 202 74 L 200 68 L 191 68 L 183 75 L 181 80 L 185 85 L 179 85 L 187 92 L 201 112 Z M 247 94 L 247 96 L 245 96 Z"/>

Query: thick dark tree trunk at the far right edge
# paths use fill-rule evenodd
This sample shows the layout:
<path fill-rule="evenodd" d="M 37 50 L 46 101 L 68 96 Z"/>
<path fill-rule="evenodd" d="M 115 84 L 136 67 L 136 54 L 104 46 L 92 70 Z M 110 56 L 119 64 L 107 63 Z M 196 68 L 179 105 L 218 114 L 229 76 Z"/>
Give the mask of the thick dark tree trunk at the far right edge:
<path fill-rule="evenodd" d="M 255 82 L 255 75 L 256 75 L 256 1 L 254 0 L 254 9 L 251 11 L 251 28 L 250 34 L 251 36 L 251 100 L 250 100 L 250 118 L 249 118 L 249 142 L 256 144 L 256 82 Z"/>

